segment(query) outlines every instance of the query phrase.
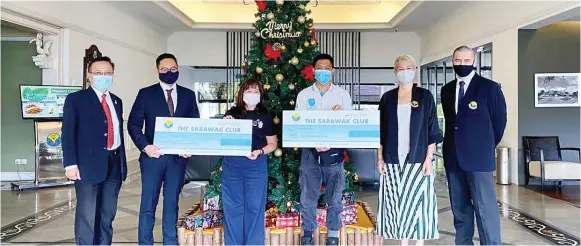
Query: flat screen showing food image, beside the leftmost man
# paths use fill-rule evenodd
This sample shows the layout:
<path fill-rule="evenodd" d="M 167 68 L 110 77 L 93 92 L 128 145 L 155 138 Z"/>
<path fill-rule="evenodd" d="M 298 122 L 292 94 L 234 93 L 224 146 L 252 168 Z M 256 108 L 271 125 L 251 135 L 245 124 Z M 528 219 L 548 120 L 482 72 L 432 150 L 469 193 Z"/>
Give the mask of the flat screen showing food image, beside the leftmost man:
<path fill-rule="evenodd" d="M 68 94 L 80 86 L 20 85 L 23 119 L 61 119 Z"/>

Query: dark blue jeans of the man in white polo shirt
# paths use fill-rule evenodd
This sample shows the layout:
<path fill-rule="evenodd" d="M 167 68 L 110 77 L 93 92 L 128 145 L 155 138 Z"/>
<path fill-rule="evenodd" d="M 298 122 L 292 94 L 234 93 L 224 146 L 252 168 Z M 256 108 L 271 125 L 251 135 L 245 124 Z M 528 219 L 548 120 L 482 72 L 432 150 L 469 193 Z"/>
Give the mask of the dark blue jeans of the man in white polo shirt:
<path fill-rule="evenodd" d="M 327 201 L 327 228 L 331 231 L 341 229 L 341 194 L 345 189 L 345 169 L 343 162 L 319 165 L 312 151 L 304 149 L 301 156 L 299 185 L 301 187 L 302 229 L 314 231 L 317 225 L 317 202 L 321 184 L 325 185 Z"/>

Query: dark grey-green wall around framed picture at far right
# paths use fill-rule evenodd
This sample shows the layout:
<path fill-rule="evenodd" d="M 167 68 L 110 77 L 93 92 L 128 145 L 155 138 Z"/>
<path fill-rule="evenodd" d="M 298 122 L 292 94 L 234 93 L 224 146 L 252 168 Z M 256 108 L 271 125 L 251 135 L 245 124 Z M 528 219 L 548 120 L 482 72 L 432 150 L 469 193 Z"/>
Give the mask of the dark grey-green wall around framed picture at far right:
<path fill-rule="evenodd" d="M 518 31 L 519 139 L 558 136 L 561 147 L 579 148 L 579 107 L 535 107 L 535 73 L 579 73 L 579 28 L 579 21 L 566 21 Z M 524 184 L 522 140 L 519 149 L 519 184 Z M 577 154 L 564 151 L 563 159 L 576 162 Z"/>

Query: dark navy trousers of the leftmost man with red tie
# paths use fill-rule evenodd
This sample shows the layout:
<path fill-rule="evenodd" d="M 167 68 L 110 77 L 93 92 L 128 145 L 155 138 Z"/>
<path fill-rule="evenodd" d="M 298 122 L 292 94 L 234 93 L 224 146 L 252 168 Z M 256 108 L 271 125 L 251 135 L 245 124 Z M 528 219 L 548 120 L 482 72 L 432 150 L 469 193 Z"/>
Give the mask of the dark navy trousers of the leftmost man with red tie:
<path fill-rule="evenodd" d="M 118 151 L 109 152 L 107 178 L 100 183 L 75 182 L 77 208 L 75 242 L 77 245 L 110 245 L 113 220 L 121 189 L 121 163 Z"/>

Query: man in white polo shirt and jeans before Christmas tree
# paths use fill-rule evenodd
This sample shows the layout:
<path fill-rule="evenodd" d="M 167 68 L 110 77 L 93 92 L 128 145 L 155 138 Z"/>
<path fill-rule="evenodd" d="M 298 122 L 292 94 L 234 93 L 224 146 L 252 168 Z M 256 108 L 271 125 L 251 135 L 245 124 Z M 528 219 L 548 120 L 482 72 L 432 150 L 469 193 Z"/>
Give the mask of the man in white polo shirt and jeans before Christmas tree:
<path fill-rule="evenodd" d="M 315 82 L 297 96 L 296 110 L 352 110 L 349 93 L 331 82 L 333 57 L 320 54 L 313 60 Z M 301 245 L 313 245 L 313 231 L 317 228 L 317 203 L 321 184 L 325 184 L 327 201 L 326 245 L 339 244 L 341 229 L 341 194 L 345 189 L 344 149 L 304 148 L 301 154 L 301 217 L 303 237 Z"/>

